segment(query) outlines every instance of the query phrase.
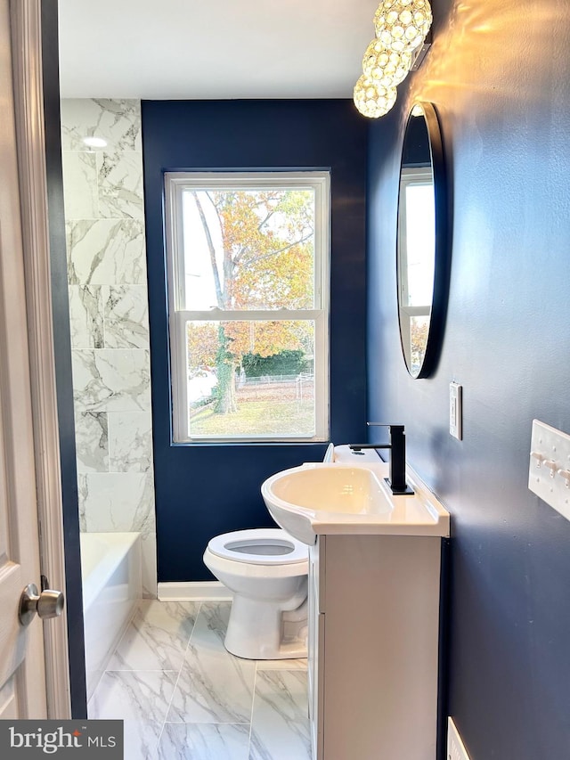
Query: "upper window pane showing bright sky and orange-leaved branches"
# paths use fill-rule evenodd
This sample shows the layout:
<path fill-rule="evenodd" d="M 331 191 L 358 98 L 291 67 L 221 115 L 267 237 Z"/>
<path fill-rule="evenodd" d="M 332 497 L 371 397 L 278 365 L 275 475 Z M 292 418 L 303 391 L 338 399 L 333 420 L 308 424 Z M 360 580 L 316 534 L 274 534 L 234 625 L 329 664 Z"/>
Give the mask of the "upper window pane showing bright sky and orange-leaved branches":
<path fill-rule="evenodd" d="M 314 189 L 183 192 L 183 308 L 314 308 Z"/>

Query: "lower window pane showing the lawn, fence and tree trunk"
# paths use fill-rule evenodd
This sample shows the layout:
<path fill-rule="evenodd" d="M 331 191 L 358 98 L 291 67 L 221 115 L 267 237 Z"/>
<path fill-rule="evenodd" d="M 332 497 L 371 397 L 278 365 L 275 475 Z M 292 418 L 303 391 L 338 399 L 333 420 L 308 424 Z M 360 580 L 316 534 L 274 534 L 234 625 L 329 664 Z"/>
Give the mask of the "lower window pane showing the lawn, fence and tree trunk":
<path fill-rule="evenodd" d="M 186 323 L 192 439 L 314 437 L 312 320 Z"/>

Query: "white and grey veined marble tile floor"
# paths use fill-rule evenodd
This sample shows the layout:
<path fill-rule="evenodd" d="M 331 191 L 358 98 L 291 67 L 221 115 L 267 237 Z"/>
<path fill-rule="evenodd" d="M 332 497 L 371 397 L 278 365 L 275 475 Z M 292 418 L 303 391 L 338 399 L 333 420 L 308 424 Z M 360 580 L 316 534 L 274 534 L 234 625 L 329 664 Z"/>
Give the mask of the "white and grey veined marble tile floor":
<path fill-rule="evenodd" d="M 230 602 L 141 602 L 89 701 L 125 760 L 309 760 L 306 660 L 224 649 Z"/>

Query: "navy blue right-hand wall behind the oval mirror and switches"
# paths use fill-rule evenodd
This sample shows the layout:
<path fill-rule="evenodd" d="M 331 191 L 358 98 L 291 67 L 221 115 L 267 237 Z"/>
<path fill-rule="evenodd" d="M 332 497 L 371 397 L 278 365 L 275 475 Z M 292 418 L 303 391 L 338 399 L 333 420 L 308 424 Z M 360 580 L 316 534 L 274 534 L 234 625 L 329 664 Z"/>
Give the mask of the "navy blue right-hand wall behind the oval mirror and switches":
<path fill-rule="evenodd" d="M 435 0 L 434 45 L 369 136 L 369 413 L 452 513 L 449 703 L 472 760 L 570 757 L 570 523 L 527 488 L 534 417 L 570 432 L 570 6 Z M 399 153 L 435 102 L 452 271 L 435 375 L 396 322 Z M 463 385 L 463 440 L 448 432 Z"/>

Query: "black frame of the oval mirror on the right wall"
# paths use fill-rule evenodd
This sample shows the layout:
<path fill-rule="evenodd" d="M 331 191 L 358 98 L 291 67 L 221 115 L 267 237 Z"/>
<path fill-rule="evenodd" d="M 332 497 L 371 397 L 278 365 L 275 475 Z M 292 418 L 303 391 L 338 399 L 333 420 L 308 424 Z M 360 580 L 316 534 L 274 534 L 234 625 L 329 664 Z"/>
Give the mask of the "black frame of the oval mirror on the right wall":
<path fill-rule="evenodd" d="M 449 192 L 447 183 L 447 174 L 445 171 L 444 143 L 442 140 L 439 119 L 437 118 L 436 109 L 431 102 L 415 102 L 411 110 L 419 105 L 424 112 L 426 125 L 428 127 L 429 148 L 431 152 L 432 170 L 434 176 L 434 195 L 436 209 L 436 234 L 435 234 L 435 264 L 434 264 L 434 291 L 432 306 L 429 319 L 428 339 L 426 343 L 426 353 L 424 360 L 419 368 L 417 375 L 411 373 L 408 366 L 405 350 L 402 340 L 402 324 L 400 320 L 400 250 L 399 234 L 396 234 L 396 282 L 397 284 L 397 308 L 398 308 L 398 327 L 400 329 L 400 345 L 402 347 L 403 361 L 411 378 L 420 380 L 429 377 L 435 371 L 439 359 L 440 350 L 444 340 L 445 315 L 447 314 L 447 300 L 449 295 L 449 273 L 450 273 L 450 213 L 449 213 Z M 415 116 L 408 114 L 406 127 L 404 129 L 403 144 L 405 135 L 408 130 L 411 118 Z M 403 147 L 403 146 L 402 146 Z M 403 151 L 402 151 L 403 153 Z M 400 176 L 402 174 L 402 163 L 400 164 Z M 400 218 L 400 184 L 398 183 L 398 215 L 396 225 L 399 229 Z"/>

